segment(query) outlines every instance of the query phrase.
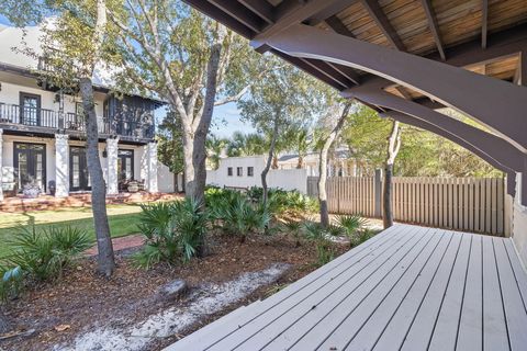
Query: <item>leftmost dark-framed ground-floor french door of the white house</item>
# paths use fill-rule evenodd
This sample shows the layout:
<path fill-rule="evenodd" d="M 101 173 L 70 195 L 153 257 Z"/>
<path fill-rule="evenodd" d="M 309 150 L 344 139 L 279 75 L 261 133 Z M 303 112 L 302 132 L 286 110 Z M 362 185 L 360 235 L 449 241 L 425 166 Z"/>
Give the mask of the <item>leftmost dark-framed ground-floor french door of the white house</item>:
<path fill-rule="evenodd" d="M 14 143 L 14 168 L 19 190 L 37 185 L 46 191 L 46 146 L 44 144 Z"/>

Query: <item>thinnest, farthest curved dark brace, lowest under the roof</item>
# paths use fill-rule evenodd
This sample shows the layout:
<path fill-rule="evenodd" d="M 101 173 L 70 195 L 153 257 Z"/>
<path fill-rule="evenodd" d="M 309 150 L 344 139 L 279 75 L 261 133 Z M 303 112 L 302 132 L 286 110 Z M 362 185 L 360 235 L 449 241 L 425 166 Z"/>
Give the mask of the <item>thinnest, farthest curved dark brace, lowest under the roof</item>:
<path fill-rule="evenodd" d="M 426 121 L 423 121 L 423 120 L 413 117 L 411 115 L 404 114 L 402 112 L 386 111 L 386 112 L 383 112 L 383 113 L 379 113 L 379 115 L 382 116 L 382 117 L 392 117 L 392 118 L 394 118 L 394 120 L 396 120 L 401 123 L 413 125 L 415 127 L 418 127 L 418 128 L 431 132 L 434 134 L 437 134 L 437 135 L 439 135 L 439 136 L 441 136 L 446 139 L 449 139 L 452 143 L 456 143 L 457 145 L 459 145 L 462 148 L 471 151 L 472 154 L 479 156 L 480 158 L 482 158 L 483 160 L 489 162 L 492 167 L 507 173 L 507 193 L 513 197 L 515 196 L 515 194 L 516 194 L 516 172 L 513 169 L 511 169 L 506 166 L 503 166 L 497 160 L 493 159 L 491 156 L 489 156 L 484 151 L 480 150 L 479 148 L 474 147 L 473 145 L 467 143 L 462 138 L 456 136 L 452 133 L 444 131 L 444 129 L 439 128 L 438 126 L 436 126 L 434 124 L 430 124 Z"/>

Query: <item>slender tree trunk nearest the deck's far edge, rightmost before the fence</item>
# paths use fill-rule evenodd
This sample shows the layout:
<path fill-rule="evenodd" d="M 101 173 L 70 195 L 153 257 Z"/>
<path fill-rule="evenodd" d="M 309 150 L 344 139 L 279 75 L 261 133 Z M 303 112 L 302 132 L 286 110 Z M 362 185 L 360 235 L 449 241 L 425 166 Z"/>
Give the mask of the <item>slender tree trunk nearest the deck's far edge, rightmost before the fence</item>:
<path fill-rule="evenodd" d="M 386 162 L 384 165 L 384 182 L 383 182 L 383 216 L 382 222 L 384 229 L 393 226 L 393 212 L 392 212 L 392 176 L 393 163 L 397 157 L 399 149 L 401 148 L 401 128 L 399 122 L 394 121 L 392 132 L 388 138 L 388 152 Z"/>

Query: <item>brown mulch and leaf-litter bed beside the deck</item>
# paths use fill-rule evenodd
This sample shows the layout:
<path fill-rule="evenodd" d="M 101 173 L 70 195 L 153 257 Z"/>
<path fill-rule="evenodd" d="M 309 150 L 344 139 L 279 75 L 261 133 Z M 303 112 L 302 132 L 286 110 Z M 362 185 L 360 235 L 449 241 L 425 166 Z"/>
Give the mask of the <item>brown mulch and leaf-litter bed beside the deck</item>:
<path fill-rule="evenodd" d="M 267 269 L 271 263 L 290 263 L 292 268 L 276 286 L 299 280 L 313 271 L 316 251 L 312 244 L 295 247 L 287 237 L 249 237 L 240 244 L 237 238 L 216 236 L 211 240 L 211 253 L 189 263 L 169 267 L 158 264 L 149 271 L 135 268 L 130 250 L 116 256 L 119 268 L 110 279 L 94 273 L 94 258 L 87 258 L 67 271 L 56 283 L 35 286 L 22 298 L 11 302 L 5 315 L 18 330 L 35 329 L 30 337 L 14 337 L 0 341 L 0 350 L 48 350 L 57 343 L 71 341 L 82 332 L 101 325 L 119 327 L 133 324 L 178 302 L 159 298 L 159 286 L 183 279 L 189 287 L 205 282 L 225 282 L 244 272 Z M 347 250 L 339 246 L 338 253 Z M 245 301 L 201 320 L 183 335 L 158 340 L 149 350 L 160 350 L 201 326 L 246 305 L 265 298 L 273 286 L 265 286 Z M 60 331 L 59 331 L 60 330 Z"/>

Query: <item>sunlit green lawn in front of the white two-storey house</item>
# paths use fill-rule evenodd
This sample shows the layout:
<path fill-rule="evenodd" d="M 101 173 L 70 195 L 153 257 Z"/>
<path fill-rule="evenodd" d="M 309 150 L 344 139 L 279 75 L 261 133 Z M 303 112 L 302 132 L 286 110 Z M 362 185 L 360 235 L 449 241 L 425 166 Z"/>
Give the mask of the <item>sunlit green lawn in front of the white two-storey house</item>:
<path fill-rule="evenodd" d="M 123 237 L 138 233 L 141 207 L 137 204 L 108 205 L 110 231 L 112 237 Z M 76 226 L 86 228 L 96 237 L 91 207 L 66 207 L 57 211 L 34 211 L 25 213 L 0 213 L 0 242 L 14 235 L 20 226 L 35 225 L 36 228 L 49 226 Z M 0 245 L 0 257 L 9 254 L 5 245 Z"/>

